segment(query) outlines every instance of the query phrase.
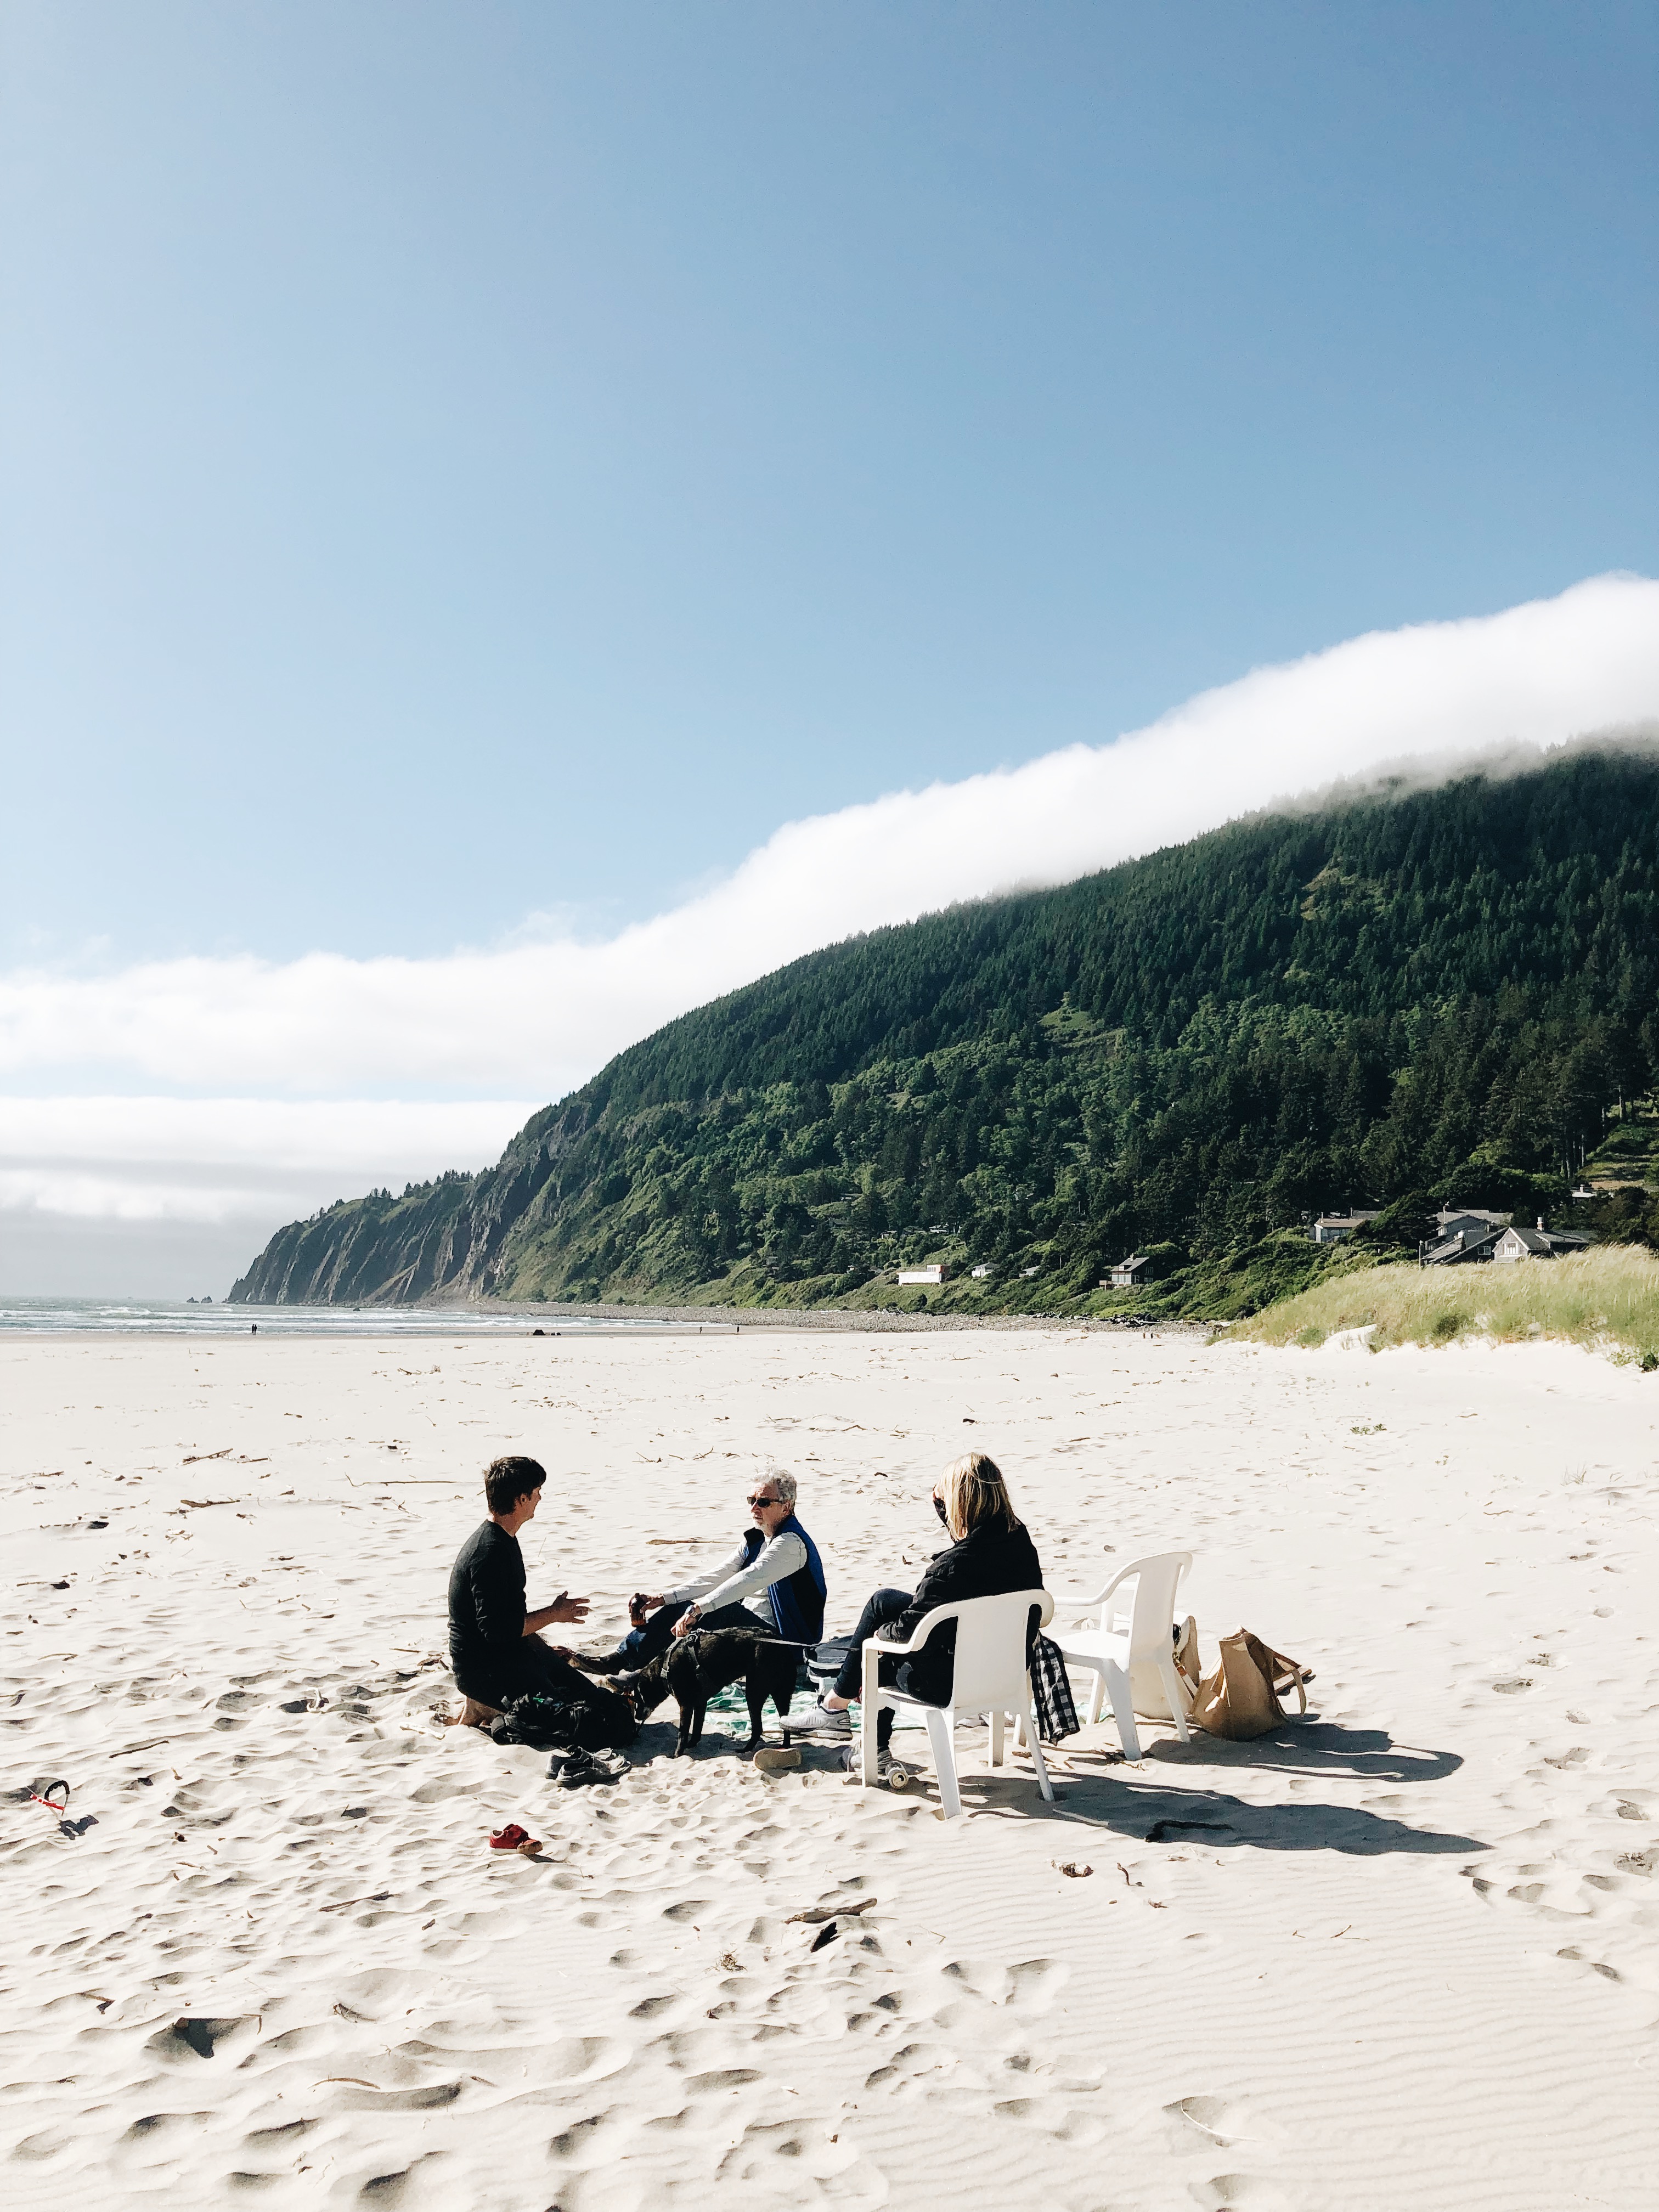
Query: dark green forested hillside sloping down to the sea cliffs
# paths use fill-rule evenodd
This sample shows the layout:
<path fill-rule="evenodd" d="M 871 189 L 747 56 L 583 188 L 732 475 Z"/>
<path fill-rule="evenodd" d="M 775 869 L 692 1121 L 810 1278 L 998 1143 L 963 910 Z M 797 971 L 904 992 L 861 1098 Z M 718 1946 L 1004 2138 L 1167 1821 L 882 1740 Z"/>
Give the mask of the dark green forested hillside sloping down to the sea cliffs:
<path fill-rule="evenodd" d="M 933 1305 L 1077 1312 L 1155 1245 L 1152 1303 L 1237 1312 L 1327 1265 L 1325 1208 L 1559 1206 L 1655 1082 L 1657 993 L 1659 757 L 1577 750 L 812 953 L 232 1296 L 900 1303 L 942 1259 Z"/>

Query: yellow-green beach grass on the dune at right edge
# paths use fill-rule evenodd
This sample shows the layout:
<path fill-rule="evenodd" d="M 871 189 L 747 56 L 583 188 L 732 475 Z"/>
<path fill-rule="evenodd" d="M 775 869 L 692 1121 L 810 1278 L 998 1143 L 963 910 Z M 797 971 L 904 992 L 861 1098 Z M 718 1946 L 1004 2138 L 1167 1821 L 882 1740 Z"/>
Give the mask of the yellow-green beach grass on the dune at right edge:
<path fill-rule="evenodd" d="M 1599 1245 L 1571 1259 L 1467 1267 L 1371 1267 L 1316 1283 L 1230 1334 L 1314 1349 L 1338 1329 L 1374 1329 L 1371 1349 L 1455 1338 L 1557 1336 L 1659 1367 L 1659 1256 Z"/>

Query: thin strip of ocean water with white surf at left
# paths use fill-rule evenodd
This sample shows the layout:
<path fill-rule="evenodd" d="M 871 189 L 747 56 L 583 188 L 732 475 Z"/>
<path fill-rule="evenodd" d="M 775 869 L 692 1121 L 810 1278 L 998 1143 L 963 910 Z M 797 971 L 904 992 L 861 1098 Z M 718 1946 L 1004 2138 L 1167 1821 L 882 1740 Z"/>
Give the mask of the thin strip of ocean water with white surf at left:
<path fill-rule="evenodd" d="M 730 1336 L 730 1321 L 484 1314 L 469 1305 L 190 1305 L 166 1298 L 0 1298 L 0 1336 Z"/>

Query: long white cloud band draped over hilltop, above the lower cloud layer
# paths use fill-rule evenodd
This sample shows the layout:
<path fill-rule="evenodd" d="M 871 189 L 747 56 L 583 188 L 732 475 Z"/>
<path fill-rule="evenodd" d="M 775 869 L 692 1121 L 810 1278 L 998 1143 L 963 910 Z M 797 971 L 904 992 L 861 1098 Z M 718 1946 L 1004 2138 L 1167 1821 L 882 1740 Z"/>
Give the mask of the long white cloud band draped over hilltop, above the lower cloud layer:
<path fill-rule="evenodd" d="M 714 889 L 602 945 L 440 960 L 168 960 L 0 978 L 0 1071 L 285 1095 L 557 1097 L 670 1015 L 818 945 L 1066 883 L 1405 757 L 1447 770 L 1659 714 L 1659 584 L 1597 577 L 1263 668 L 1110 745 L 787 823 Z"/>

